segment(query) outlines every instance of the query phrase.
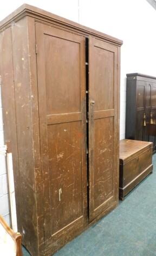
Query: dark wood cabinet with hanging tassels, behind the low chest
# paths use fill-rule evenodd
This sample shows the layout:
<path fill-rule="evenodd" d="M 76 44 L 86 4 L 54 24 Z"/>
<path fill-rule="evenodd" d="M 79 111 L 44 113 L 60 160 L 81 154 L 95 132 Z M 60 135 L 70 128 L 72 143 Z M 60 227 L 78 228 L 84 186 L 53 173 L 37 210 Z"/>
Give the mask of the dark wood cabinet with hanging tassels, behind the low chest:
<path fill-rule="evenodd" d="M 156 145 L 156 77 L 127 74 L 126 138 Z"/>

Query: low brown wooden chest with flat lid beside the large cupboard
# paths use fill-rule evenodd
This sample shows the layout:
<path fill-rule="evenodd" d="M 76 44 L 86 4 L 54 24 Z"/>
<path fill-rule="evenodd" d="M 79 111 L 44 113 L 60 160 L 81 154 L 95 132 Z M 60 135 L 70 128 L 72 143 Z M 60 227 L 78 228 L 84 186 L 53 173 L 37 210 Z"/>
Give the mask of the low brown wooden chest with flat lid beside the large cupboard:
<path fill-rule="evenodd" d="M 152 142 L 120 141 L 119 198 L 124 200 L 135 186 L 152 173 Z"/>

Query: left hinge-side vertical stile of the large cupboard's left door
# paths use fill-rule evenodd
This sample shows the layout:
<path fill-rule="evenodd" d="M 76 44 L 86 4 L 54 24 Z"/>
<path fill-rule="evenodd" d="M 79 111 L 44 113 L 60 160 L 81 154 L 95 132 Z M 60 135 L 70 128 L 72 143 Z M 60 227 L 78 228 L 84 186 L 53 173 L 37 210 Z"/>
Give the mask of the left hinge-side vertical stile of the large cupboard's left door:
<path fill-rule="evenodd" d="M 50 223 L 49 212 L 49 157 L 48 157 L 48 131 L 47 131 L 47 105 L 46 105 L 46 81 L 45 81 L 45 54 L 44 54 L 44 27 L 43 24 L 35 23 L 36 27 L 36 46 L 40 48 L 37 51 L 37 83 L 38 83 L 38 108 L 40 118 L 40 145 L 41 145 L 41 172 L 42 172 L 42 191 L 43 191 L 43 209 L 44 209 L 44 231 L 47 223 Z M 42 49 L 42 51 L 41 51 Z M 41 65 L 42 63 L 42 65 Z M 39 76 L 38 76 L 39 75 Z M 47 235 L 50 236 L 50 229 Z M 45 239 L 45 237 L 44 237 Z"/>

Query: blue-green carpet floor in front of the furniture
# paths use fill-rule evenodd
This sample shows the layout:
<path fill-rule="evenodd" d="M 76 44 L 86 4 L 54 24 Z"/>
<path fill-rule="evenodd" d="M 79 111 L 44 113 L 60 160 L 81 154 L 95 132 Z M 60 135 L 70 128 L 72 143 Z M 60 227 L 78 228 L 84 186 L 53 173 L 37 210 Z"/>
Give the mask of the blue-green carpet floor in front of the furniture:
<path fill-rule="evenodd" d="M 29 255 L 23 247 L 23 256 Z M 156 154 L 153 174 L 135 187 L 124 202 L 119 201 L 118 208 L 54 255 L 156 255 Z"/>

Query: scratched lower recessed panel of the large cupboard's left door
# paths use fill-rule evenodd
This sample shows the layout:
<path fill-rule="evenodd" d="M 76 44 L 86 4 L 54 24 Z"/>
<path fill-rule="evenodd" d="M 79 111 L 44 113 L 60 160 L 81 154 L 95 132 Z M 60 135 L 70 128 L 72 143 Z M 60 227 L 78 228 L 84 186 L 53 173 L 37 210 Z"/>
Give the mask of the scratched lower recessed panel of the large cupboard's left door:
<path fill-rule="evenodd" d="M 51 233 L 83 215 L 81 121 L 48 125 Z M 55 138 L 55 139 L 54 139 Z"/>

